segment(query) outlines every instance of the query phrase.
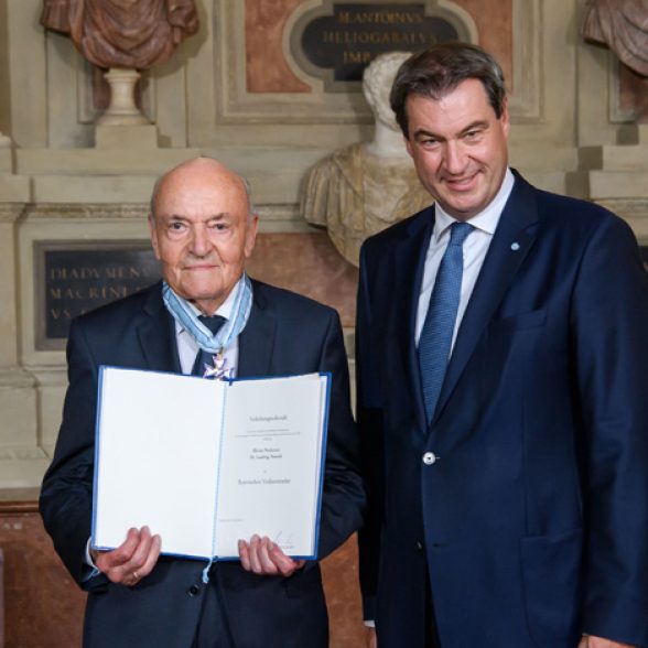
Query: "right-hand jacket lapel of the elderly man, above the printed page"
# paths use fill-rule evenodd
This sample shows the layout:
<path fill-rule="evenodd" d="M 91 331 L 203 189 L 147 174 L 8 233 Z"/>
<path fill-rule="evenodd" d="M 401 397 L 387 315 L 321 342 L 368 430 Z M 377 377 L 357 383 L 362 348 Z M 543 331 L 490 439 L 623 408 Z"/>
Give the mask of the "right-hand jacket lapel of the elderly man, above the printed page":
<path fill-rule="evenodd" d="M 268 309 L 262 284 L 252 281 L 252 291 L 250 317 L 239 336 L 239 377 L 268 376 L 271 372 L 277 320 Z"/>

